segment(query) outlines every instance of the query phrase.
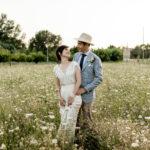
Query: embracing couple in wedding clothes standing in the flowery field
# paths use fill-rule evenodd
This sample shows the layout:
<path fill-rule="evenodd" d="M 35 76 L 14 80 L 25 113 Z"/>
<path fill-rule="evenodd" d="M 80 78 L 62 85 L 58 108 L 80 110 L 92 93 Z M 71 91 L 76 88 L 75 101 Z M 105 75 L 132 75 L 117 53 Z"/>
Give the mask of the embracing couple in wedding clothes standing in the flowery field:
<path fill-rule="evenodd" d="M 69 61 L 68 46 L 58 47 L 56 55 L 60 61 L 54 67 L 59 97 L 61 123 L 58 136 L 64 136 L 72 142 L 78 127 L 92 121 L 91 107 L 95 88 L 102 82 L 102 64 L 100 58 L 90 51 L 92 37 L 82 33 L 77 40 L 79 52 Z"/>

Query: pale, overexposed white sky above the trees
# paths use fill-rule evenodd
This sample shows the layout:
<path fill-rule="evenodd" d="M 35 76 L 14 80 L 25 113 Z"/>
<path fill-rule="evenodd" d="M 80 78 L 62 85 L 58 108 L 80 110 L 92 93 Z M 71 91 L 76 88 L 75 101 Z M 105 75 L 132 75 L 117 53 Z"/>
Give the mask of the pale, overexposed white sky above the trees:
<path fill-rule="evenodd" d="M 0 0 L 0 14 L 20 24 L 26 43 L 40 30 L 60 35 L 75 46 L 81 33 L 93 48 L 150 43 L 150 0 Z"/>

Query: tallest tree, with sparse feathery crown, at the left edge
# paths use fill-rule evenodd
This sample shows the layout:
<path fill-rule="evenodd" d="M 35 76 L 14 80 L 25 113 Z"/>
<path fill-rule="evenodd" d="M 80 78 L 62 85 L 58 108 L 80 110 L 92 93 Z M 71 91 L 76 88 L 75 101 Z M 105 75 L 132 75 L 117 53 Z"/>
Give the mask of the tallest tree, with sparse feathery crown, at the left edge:
<path fill-rule="evenodd" d="M 25 49 L 23 39 L 25 34 L 21 34 L 19 24 L 15 25 L 13 20 L 8 20 L 6 14 L 0 17 L 0 46 L 13 52 L 17 49 Z"/>

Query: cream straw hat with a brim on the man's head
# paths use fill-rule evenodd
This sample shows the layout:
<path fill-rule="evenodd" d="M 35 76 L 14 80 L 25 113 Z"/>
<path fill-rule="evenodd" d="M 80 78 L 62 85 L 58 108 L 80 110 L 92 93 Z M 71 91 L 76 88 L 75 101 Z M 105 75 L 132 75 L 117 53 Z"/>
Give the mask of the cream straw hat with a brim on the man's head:
<path fill-rule="evenodd" d="M 89 35 L 89 34 L 87 34 L 87 33 L 82 33 L 80 35 L 80 37 L 79 38 L 75 38 L 75 40 L 81 41 L 81 42 L 85 42 L 85 43 L 88 43 L 88 44 L 91 44 L 91 45 L 94 45 L 92 43 L 92 36 Z"/>

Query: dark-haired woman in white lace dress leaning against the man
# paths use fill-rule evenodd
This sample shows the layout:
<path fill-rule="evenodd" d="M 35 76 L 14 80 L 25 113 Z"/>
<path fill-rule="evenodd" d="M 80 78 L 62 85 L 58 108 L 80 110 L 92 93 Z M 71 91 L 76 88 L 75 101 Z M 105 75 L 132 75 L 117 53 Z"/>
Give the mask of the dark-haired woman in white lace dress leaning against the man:
<path fill-rule="evenodd" d="M 69 61 L 70 50 L 66 45 L 58 47 L 56 56 L 60 61 L 60 64 L 54 67 L 61 116 L 58 136 L 72 142 L 82 104 L 81 96 L 76 95 L 81 84 L 80 67 L 77 62 Z"/>

